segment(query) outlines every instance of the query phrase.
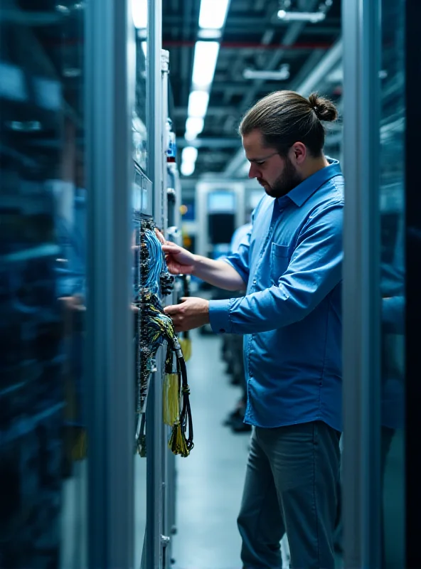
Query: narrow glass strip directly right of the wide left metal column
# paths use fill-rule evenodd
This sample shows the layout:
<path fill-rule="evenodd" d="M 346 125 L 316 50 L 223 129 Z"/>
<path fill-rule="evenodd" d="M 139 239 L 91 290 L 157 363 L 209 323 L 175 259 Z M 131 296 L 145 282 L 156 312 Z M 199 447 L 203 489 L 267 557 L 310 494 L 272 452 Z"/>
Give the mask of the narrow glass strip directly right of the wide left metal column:
<path fill-rule="evenodd" d="M 147 154 L 146 154 L 146 46 L 147 46 L 147 0 L 132 0 L 132 13 L 136 31 L 136 93 L 133 112 L 133 228 L 134 244 L 140 243 L 140 218 L 151 216 L 153 213 L 152 184 L 146 178 Z M 139 256 L 134 255 L 134 290 L 136 292 L 139 282 Z M 138 322 L 140 324 L 140 322 Z M 134 336 L 134 353 L 136 354 L 135 382 L 136 393 L 134 404 L 136 405 L 136 430 L 144 432 L 145 408 L 141 405 L 139 392 L 140 380 L 140 351 L 139 331 Z M 133 433 L 134 435 L 134 433 Z M 134 567 L 139 568 L 142 563 L 142 551 L 144 550 L 144 536 L 146 531 L 146 457 L 141 457 L 137 452 L 134 459 Z"/>

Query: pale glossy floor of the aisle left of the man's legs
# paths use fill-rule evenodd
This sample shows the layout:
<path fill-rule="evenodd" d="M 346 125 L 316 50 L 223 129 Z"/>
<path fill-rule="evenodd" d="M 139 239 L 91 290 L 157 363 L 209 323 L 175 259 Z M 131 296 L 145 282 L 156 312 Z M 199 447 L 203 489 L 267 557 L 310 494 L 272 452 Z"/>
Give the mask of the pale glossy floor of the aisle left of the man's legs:
<path fill-rule="evenodd" d="M 195 447 L 177 457 L 176 569 L 238 569 L 240 507 L 248 434 L 234 435 L 223 426 L 240 397 L 224 373 L 220 338 L 192 336 L 188 362 Z"/>

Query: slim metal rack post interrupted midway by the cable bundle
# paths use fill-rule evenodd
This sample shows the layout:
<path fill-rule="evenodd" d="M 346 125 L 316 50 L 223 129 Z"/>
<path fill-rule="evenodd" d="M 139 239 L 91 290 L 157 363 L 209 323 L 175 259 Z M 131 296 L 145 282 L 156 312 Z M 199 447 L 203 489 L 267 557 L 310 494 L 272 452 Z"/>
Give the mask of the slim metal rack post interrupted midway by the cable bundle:
<path fill-rule="evenodd" d="M 154 219 L 161 224 L 164 125 L 162 124 L 162 2 L 148 1 L 146 58 L 148 175 L 154 184 Z M 157 371 L 151 378 L 146 408 L 146 568 L 162 567 L 162 376 L 164 356 L 156 354 Z"/>

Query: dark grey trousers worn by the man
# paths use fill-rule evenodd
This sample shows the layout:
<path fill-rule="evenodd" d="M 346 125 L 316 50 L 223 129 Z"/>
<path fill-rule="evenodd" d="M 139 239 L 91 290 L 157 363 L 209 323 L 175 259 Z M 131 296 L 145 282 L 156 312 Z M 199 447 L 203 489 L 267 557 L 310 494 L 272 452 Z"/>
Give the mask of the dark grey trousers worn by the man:
<path fill-rule="evenodd" d="M 340 433 L 321 421 L 255 427 L 238 516 L 243 569 L 334 569 Z"/>

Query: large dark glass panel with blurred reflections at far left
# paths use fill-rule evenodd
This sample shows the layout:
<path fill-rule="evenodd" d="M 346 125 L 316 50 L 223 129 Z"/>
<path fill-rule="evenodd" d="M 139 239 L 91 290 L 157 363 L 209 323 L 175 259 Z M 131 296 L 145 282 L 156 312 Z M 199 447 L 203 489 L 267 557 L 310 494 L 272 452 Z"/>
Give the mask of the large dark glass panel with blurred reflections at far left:
<path fill-rule="evenodd" d="M 0 6 L 0 566 L 86 567 L 82 3 Z"/>

